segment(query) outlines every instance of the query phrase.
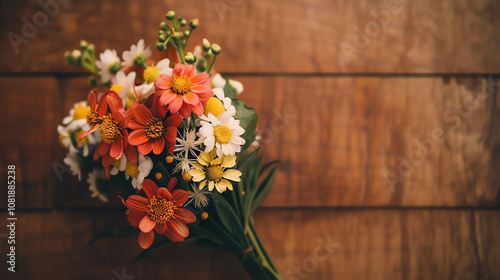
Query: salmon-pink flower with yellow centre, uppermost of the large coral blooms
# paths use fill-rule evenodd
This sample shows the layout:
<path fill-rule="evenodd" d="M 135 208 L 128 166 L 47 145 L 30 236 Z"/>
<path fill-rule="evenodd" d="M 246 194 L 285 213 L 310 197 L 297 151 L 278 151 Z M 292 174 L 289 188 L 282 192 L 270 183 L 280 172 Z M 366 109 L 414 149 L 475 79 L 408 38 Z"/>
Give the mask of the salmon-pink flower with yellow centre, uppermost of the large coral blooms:
<path fill-rule="evenodd" d="M 191 112 L 203 115 L 203 107 L 214 94 L 210 88 L 212 83 L 207 73 L 194 75 L 193 65 L 177 64 L 172 71 L 172 77 L 161 74 L 155 80 L 155 93 L 159 96 L 162 106 L 183 118 L 188 118 Z"/>

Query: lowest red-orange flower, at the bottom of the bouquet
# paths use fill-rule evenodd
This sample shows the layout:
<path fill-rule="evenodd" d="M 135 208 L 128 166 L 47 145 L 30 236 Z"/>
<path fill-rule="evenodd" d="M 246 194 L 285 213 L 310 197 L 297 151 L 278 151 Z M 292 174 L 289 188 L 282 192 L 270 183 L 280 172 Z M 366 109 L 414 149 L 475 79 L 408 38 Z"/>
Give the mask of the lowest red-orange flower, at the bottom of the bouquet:
<path fill-rule="evenodd" d="M 172 178 L 168 189 L 172 190 L 177 179 Z M 152 180 L 144 179 L 142 189 L 146 197 L 131 195 L 123 204 L 130 210 L 128 222 L 139 228 L 139 246 L 149 248 L 154 240 L 154 231 L 164 234 L 173 242 L 182 242 L 189 235 L 186 224 L 194 223 L 196 216 L 189 210 L 181 208 L 188 200 L 184 190 L 159 188 Z"/>

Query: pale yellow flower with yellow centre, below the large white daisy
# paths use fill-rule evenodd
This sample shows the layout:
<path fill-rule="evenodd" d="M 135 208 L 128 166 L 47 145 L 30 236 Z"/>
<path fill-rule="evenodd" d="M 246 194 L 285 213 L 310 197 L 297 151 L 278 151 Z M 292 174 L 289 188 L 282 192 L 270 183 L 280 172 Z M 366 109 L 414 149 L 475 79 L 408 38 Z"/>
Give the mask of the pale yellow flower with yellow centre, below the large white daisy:
<path fill-rule="evenodd" d="M 223 193 L 226 189 L 233 190 L 233 185 L 228 180 L 240 181 L 241 172 L 231 168 L 236 164 L 236 156 L 217 158 L 217 153 L 213 150 L 210 153 L 201 152 L 197 160 L 198 163 L 193 163 L 194 168 L 189 174 L 193 176 L 193 181 L 201 182 L 200 190 L 208 183 L 209 191 L 215 186 L 218 192 Z"/>

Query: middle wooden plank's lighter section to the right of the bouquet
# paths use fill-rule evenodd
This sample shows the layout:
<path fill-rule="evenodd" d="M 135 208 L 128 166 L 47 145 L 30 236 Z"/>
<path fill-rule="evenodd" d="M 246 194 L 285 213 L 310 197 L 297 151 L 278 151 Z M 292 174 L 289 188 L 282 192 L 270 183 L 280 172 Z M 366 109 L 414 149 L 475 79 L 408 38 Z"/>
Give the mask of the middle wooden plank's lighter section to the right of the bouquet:
<path fill-rule="evenodd" d="M 499 205 L 500 101 L 483 88 L 465 105 L 478 79 L 234 78 L 259 114 L 265 160 L 282 160 L 264 206 Z M 88 89 L 61 82 L 67 107 Z M 86 183 L 56 188 L 58 205 L 96 205 Z"/>

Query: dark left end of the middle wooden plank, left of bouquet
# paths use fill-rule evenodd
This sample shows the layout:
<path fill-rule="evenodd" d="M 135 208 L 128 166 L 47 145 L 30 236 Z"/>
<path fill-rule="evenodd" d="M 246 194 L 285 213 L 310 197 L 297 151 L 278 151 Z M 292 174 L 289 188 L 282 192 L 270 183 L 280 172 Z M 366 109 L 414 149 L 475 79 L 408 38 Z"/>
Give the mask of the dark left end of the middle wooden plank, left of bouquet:
<path fill-rule="evenodd" d="M 7 166 L 15 165 L 16 207 L 50 208 L 56 180 L 52 163 L 58 143 L 53 98 L 57 82 L 54 78 L 0 78 L 0 87 L 2 197 L 7 195 Z M 0 208 L 7 208 L 7 199 L 0 201 Z"/>

